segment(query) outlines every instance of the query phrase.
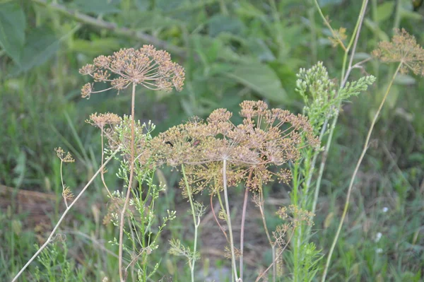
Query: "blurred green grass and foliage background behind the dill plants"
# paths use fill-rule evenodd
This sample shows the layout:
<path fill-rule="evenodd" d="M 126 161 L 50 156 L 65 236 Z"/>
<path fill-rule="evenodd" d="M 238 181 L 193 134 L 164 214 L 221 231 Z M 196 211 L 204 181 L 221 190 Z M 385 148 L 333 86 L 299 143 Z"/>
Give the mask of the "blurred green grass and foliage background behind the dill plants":
<path fill-rule="evenodd" d="M 393 28 L 405 28 L 423 45 L 424 7 L 418 2 L 371 0 L 357 61 L 369 57 L 377 42 L 389 40 Z M 351 34 L 360 1 L 319 4 L 334 29 L 344 27 Z M 218 107 L 238 112 L 242 100 L 261 99 L 272 107 L 302 112 L 302 100 L 294 90 L 300 68 L 324 61 L 330 76 L 340 77 L 343 50 L 331 45 L 330 35 L 308 0 L 0 1 L 0 280 L 16 274 L 63 211 L 60 162 L 54 148 L 61 146 L 76 158 L 66 166 L 64 178 L 79 191 L 100 162 L 100 136 L 85 120 L 93 112 L 129 112 L 131 98 L 125 91 L 81 99 L 81 86 L 88 82 L 78 74 L 81 66 L 100 54 L 143 44 L 170 52 L 186 70 L 184 90 L 139 89 L 136 98 L 136 118 L 151 119 L 159 132 L 193 115 L 206 117 Z M 346 103 L 336 128 L 314 225 L 313 240 L 323 254 L 331 244 L 370 117 L 393 71 L 392 66 L 372 60 L 352 74 L 352 79 L 372 74 L 377 82 Z M 330 269 L 333 281 L 423 279 L 423 91 L 423 79 L 396 78 L 358 175 Z M 118 189 L 114 166 L 109 170 L 107 182 Z M 163 175 L 170 187 L 164 201 L 178 210 L 186 204 L 172 188 L 178 173 L 164 169 Z M 284 194 L 275 189 L 267 195 L 284 201 Z M 107 241 L 116 230 L 101 222 L 106 201 L 96 182 L 85 204 L 77 206 L 61 227 L 67 230 L 69 253 L 66 259 L 59 254 L 57 262 L 61 267 L 69 263 L 79 275 L 69 281 L 117 277 L 117 259 L 96 247 L 102 244 L 114 250 Z M 179 223 L 183 221 L 184 213 Z M 181 230 L 175 225 L 172 234 L 181 237 Z M 179 278 L 175 274 L 184 265 L 163 256 L 160 274 L 184 281 L 184 271 Z M 211 264 L 203 269 L 209 273 L 226 263 L 217 257 L 209 262 L 207 256 L 202 262 Z M 34 262 L 22 281 L 34 280 L 36 266 L 44 267 Z"/>

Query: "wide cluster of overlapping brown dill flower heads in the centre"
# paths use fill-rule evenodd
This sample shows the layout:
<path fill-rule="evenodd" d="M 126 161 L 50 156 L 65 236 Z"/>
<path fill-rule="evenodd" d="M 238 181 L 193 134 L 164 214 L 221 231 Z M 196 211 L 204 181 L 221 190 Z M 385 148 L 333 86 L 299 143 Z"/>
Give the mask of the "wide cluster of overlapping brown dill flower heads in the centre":
<path fill-rule="evenodd" d="M 222 189 L 223 160 L 228 163 L 230 187 L 246 181 L 247 187 L 257 191 L 273 177 L 288 182 L 290 171 L 274 172 L 270 167 L 297 160 L 300 148 L 319 146 L 307 118 L 287 110 L 269 110 L 262 101 L 244 101 L 240 107 L 242 124 L 233 124 L 232 113 L 218 109 L 206 122 L 195 118 L 159 134 L 151 142 L 153 158 L 158 165 L 185 165 L 194 192 Z"/>

